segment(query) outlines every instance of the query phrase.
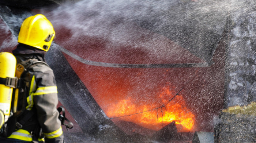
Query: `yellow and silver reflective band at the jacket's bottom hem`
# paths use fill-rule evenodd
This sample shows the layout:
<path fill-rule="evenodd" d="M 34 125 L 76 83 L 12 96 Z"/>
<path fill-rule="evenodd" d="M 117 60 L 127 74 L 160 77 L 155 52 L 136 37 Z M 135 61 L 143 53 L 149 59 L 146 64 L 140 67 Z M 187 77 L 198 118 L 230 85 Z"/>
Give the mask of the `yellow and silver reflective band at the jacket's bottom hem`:
<path fill-rule="evenodd" d="M 30 133 L 26 130 L 19 129 L 15 132 L 13 132 L 8 138 L 10 139 L 19 139 L 19 140 L 24 140 L 31 142 L 32 141 L 32 136 Z"/>

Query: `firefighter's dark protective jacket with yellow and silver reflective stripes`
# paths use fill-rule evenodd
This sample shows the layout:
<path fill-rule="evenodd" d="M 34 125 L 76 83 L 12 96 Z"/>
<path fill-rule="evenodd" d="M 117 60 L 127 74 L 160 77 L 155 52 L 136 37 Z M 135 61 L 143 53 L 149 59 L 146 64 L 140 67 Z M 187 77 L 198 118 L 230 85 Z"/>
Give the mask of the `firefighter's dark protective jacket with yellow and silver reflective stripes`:
<path fill-rule="evenodd" d="M 13 54 L 17 64 L 28 60 L 45 61 L 44 51 L 27 45 L 19 44 Z M 46 143 L 63 143 L 61 121 L 58 119 L 59 112 L 57 111 L 57 86 L 52 69 L 48 65 L 38 63 L 25 71 L 21 78 L 26 83 L 26 110 L 23 116 L 26 112 L 33 112 L 33 115 L 21 129 L 13 132 L 8 138 L 32 141 L 31 133 L 33 135 L 39 124 Z M 19 98 L 19 100 L 22 99 Z M 19 104 L 18 107 L 20 106 Z M 19 118 L 22 119 L 23 116 Z"/>

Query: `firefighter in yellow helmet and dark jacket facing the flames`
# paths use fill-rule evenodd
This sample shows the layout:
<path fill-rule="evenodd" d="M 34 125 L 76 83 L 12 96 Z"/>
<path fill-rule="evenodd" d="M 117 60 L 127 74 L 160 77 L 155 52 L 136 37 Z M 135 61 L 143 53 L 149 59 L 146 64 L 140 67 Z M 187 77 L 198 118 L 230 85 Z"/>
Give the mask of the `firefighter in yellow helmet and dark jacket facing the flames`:
<path fill-rule="evenodd" d="M 45 54 L 54 36 L 53 26 L 44 15 L 37 14 L 23 21 L 19 44 L 12 53 L 17 65 L 29 67 L 19 75 L 25 83 L 25 111 L 15 119 L 15 131 L 1 137 L 0 143 L 64 143 L 57 111 L 56 81 L 52 69 L 45 63 Z M 18 102 L 18 108 L 22 108 L 22 102 Z"/>

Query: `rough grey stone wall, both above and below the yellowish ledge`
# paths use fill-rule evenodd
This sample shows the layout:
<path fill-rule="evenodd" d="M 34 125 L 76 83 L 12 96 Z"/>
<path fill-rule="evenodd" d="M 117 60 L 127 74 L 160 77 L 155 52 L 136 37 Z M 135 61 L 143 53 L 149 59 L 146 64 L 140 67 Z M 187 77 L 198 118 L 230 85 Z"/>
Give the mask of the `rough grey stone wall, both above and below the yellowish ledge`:
<path fill-rule="evenodd" d="M 256 2 L 230 1 L 234 8 L 227 33 L 225 108 L 237 110 L 256 101 Z M 214 132 L 215 143 L 255 143 L 256 117 L 221 112 Z"/>

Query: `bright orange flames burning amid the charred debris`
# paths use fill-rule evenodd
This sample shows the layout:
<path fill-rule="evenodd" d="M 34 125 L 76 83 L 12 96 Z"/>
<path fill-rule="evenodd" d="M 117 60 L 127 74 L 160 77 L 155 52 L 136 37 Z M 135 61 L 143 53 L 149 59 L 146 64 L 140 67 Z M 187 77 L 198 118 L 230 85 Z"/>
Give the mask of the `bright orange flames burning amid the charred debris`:
<path fill-rule="evenodd" d="M 130 121 L 153 130 L 159 130 L 175 121 L 182 126 L 180 131 L 191 131 L 195 116 L 186 108 L 182 96 L 175 94 L 174 90 L 167 86 L 158 95 L 158 104 L 136 105 L 132 98 L 128 98 L 110 107 L 106 115 L 114 120 L 116 118 Z"/>

